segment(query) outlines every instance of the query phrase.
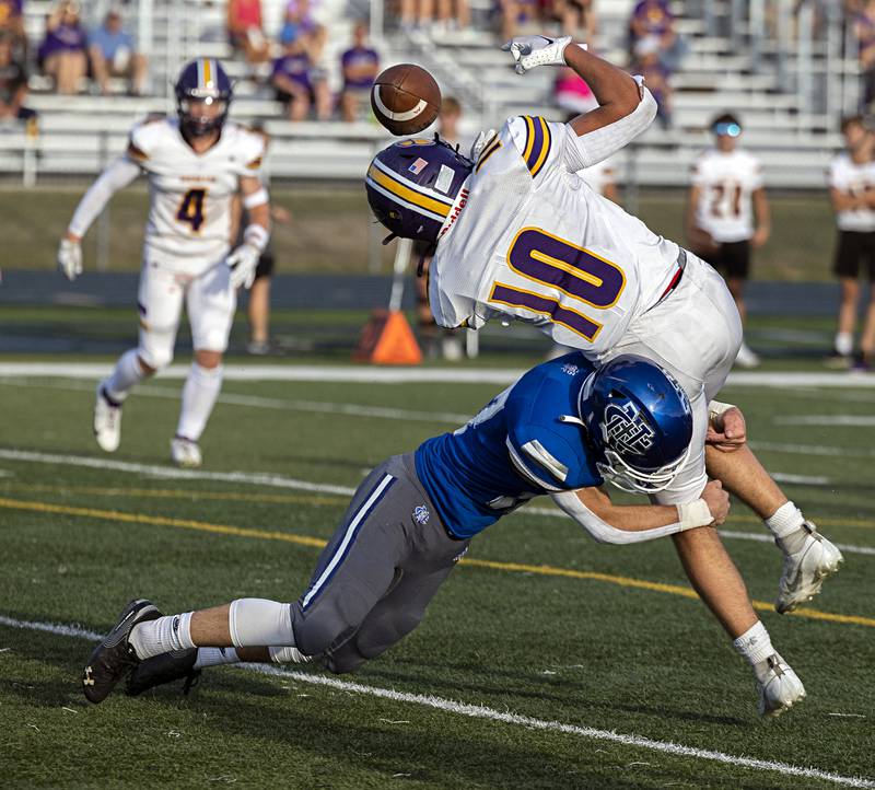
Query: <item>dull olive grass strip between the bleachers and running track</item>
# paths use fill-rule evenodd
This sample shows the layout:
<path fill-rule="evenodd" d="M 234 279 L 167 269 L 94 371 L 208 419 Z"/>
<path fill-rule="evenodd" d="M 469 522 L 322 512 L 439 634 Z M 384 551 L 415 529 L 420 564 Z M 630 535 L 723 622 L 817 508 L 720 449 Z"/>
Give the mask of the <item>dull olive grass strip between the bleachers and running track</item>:
<path fill-rule="evenodd" d="M 0 214 L 4 219 L 0 268 L 55 268 L 58 240 L 86 186 L 88 182 L 65 188 L 0 189 Z M 277 185 L 271 194 L 277 205 L 293 214 L 290 225 L 273 228 L 278 271 L 368 270 L 373 218 L 363 188 Z M 826 191 L 777 193 L 770 200 L 772 237 L 755 255 L 752 276 L 782 281 L 831 279 L 835 223 Z M 657 233 L 682 243 L 685 201 L 682 190 L 645 189 L 635 213 Z M 141 187 L 126 189 L 113 199 L 107 220 L 110 270 L 139 270 L 147 210 L 148 198 Z M 96 236 L 95 228 L 85 240 L 86 269 L 96 266 Z M 390 266 L 392 254 L 393 247 L 383 249 L 384 268 Z"/>

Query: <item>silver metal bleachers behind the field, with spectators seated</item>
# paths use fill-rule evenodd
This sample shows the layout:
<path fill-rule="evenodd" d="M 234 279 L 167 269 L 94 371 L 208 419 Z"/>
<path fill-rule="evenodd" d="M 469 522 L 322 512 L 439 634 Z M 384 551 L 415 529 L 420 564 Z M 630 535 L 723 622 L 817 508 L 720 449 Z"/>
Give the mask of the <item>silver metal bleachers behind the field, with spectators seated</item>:
<path fill-rule="evenodd" d="M 759 4 L 770 1 L 778 5 L 784 2 L 759 0 Z M 267 33 L 276 34 L 284 3 L 264 0 L 262 4 Z M 89 3 L 90 23 L 96 23 L 105 5 L 100 0 Z M 524 78 L 514 74 L 508 56 L 498 48 L 497 36 L 489 32 L 493 22 L 491 0 L 472 0 L 471 5 L 474 30 L 385 35 L 377 42 L 384 65 L 415 60 L 430 68 L 445 91 L 462 98 L 466 109 L 463 130 L 470 136 L 518 113 L 558 117 L 550 101 L 550 71 L 536 70 Z M 632 5 L 633 0 L 596 3 L 600 51 L 614 62 L 626 61 L 625 32 Z M 685 184 L 690 162 L 708 142 L 703 127 L 715 113 L 733 109 L 744 119 L 746 147 L 763 160 L 770 186 L 822 186 L 824 170 L 841 143 L 836 131 L 838 112 L 855 102 L 853 92 L 847 90 L 856 78 L 855 60 L 835 57 L 835 53 L 829 57 L 828 42 L 814 38 L 804 63 L 780 57 L 773 40 L 750 34 L 758 24 L 756 1 L 742 3 L 748 8 L 748 16 L 738 19 L 735 0 L 701 0 L 698 13 L 696 5 L 676 3 L 678 30 L 690 51 L 675 77 L 674 127 L 664 130 L 654 125 L 621 153 L 616 162 L 620 178 L 653 186 Z M 43 37 L 49 7 L 46 0 L 25 4 L 26 27 L 35 45 Z M 373 153 L 388 139 L 373 120 L 284 120 L 280 105 L 264 84 L 264 70 L 253 70 L 231 58 L 222 2 L 140 0 L 139 5 L 131 2 L 126 9 L 129 28 L 138 33 L 141 43 L 148 40 L 151 95 L 58 96 L 47 92 L 43 78 L 34 78 L 27 104 L 39 112 L 39 135 L 0 130 L 0 173 L 34 184 L 44 177 L 98 172 L 124 150 L 133 123 L 152 113 L 174 112 L 170 90 L 173 75 L 182 62 L 196 55 L 218 57 L 226 65 L 235 79 L 235 118 L 265 123 L 272 137 L 269 169 L 275 178 L 361 178 Z M 324 62 L 330 84 L 337 88 L 339 53 L 350 38 L 355 11 L 347 0 L 324 0 L 320 9 L 320 21 L 329 31 Z M 744 33 L 745 25 L 748 33 Z M 803 81 L 802 68 L 814 83 Z M 818 84 L 830 101 L 813 101 Z M 838 102 L 836 85 L 840 88 Z"/>

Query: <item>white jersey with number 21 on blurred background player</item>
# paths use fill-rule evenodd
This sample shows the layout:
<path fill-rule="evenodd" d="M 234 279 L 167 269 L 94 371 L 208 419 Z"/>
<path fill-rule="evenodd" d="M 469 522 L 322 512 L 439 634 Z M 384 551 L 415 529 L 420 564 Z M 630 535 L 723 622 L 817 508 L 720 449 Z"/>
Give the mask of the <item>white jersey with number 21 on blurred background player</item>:
<path fill-rule="evenodd" d="M 754 235 L 751 196 L 762 186 L 762 169 L 754 154 L 705 151 L 693 162 L 692 184 L 700 187 L 696 223 L 715 242 L 742 242 Z"/>

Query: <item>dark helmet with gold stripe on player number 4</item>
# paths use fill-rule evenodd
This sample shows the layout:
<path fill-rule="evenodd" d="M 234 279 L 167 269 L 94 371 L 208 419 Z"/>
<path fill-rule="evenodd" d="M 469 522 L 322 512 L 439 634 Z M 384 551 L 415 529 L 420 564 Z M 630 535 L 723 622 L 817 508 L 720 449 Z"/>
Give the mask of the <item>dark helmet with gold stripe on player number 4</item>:
<path fill-rule="evenodd" d="M 192 137 L 221 129 L 234 91 L 222 65 L 213 58 L 196 58 L 183 67 L 176 80 L 176 113 L 179 126 Z M 203 107 L 218 104 L 218 113 Z"/>

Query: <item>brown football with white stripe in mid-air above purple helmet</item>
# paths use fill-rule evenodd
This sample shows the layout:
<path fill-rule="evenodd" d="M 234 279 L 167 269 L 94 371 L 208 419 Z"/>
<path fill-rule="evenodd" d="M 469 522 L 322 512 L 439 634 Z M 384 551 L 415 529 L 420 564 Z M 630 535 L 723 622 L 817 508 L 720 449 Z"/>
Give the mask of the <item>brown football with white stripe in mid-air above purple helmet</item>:
<path fill-rule="evenodd" d="M 371 89 L 371 107 L 393 135 L 416 135 L 441 111 L 441 89 L 425 69 L 400 63 L 386 69 Z"/>

